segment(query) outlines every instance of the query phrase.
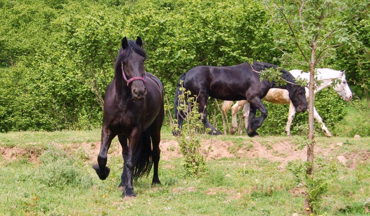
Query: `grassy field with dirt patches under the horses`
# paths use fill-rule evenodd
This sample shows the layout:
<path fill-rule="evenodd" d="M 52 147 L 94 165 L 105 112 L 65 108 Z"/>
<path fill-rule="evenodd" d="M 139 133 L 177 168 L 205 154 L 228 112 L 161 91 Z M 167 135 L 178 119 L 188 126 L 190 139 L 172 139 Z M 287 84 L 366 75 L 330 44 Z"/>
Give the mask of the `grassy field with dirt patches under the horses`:
<path fill-rule="evenodd" d="M 164 144 L 174 145 L 166 128 Z M 211 140 L 211 141 L 210 141 Z M 292 215 L 305 214 L 304 188 L 287 162 L 299 163 L 304 150 L 283 136 L 207 137 L 213 154 L 200 178 L 185 176 L 176 146 L 161 147 L 160 186 L 152 175 L 134 183 L 137 198 L 121 199 L 121 149 L 117 138 L 108 156 L 110 176 L 91 168 L 100 131 L 0 134 L 0 212 L 6 215 Z M 317 215 L 365 215 L 370 209 L 370 138 L 317 138 L 317 156 L 333 169 L 329 191 Z M 343 146 L 337 146 L 342 142 Z M 214 143 L 214 145 L 212 145 Z M 213 149 L 213 150 L 212 150 Z M 223 153 L 228 152 L 223 158 Z M 262 153 L 261 153 L 262 152 Z M 231 154 L 231 156 L 230 156 Z M 346 165 L 337 156 L 348 159 Z"/>

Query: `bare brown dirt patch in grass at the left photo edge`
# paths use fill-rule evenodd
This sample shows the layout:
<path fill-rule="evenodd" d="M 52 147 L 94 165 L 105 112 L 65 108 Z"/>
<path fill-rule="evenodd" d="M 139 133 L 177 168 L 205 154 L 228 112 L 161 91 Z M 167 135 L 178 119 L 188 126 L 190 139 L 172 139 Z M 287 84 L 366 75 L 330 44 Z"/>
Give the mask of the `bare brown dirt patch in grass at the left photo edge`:
<path fill-rule="evenodd" d="M 3 158 L 13 161 L 17 158 L 28 158 L 28 161 L 38 163 L 38 155 L 41 154 L 41 149 L 38 148 L 19 148 L 17 146 L 1 147 L 0 155 L 3 155 Z"/>

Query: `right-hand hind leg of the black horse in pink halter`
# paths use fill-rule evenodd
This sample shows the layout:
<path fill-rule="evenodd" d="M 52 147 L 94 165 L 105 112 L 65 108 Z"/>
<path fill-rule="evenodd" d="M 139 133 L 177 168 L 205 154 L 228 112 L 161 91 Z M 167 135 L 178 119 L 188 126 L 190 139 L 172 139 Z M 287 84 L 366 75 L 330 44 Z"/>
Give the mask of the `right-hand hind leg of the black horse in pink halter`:
<path fill-rule="evenodd" d="M 164 106 L 162 105 L 157 118 L 154 120 L 153 124 L 150 126 L 150 137 L 152 139 L 152 159 L 154 164 L 153 180 L 152 185 L 161 184 L 158 176 L 158 163 L 161 156 L 161 149 L 159 149 L 159 142 L 161 141 L 161 128 L 164 118 Z"/>

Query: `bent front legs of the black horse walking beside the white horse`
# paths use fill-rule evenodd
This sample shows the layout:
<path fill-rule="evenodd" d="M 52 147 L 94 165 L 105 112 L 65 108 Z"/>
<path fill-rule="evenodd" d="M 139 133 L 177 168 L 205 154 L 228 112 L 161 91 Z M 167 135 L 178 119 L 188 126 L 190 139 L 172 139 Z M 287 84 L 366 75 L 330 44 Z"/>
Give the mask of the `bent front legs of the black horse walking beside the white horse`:
<path fill-rule="evenodd" d="M 262 125 L 262 122 L 265 121 L 268 112 L 260 98 L 254 97 L 252 99 L 248 99 L 248 101 L 250 102 L 251 110 L 249 114 L 249 124 L 247 133 L 248 136 L 255 136 L 258 135 L 256 130 Z M 258 109 L 261 112 L 261 115 L 259 117 L 255 117 L 256 109 Z"/>

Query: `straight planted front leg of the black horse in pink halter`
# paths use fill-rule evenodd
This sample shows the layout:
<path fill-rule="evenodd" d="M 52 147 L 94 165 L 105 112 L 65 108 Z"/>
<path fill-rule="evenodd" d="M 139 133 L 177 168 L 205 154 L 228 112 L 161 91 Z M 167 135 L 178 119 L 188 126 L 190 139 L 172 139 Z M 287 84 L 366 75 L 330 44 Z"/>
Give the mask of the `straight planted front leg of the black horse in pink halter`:
<path fill-rule="evenodd" d="M 125 191 L 122 193 L 122 197 L 132 198 L 136 196 L 134 193 L 134 186 L 132 186 L 132 180 L 134 176 L 135 168 L 135 153 L 137 145 L 141 136 L 141 126 L 137 126 L 132 129 L 131 134 L 128 138 L 128 155 L 127 161 L 125 161 L 125 167 L 127 170 L 127 185 L 125 186 Z"/>

